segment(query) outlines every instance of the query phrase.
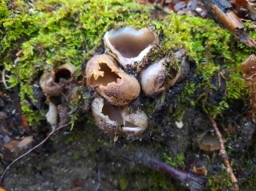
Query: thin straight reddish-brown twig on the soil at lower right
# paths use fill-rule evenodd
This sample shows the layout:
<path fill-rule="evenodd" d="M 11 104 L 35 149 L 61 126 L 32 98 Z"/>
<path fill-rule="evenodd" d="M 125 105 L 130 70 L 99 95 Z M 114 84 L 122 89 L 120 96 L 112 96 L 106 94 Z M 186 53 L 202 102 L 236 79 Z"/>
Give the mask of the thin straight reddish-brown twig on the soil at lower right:
<path fill-rule="evenodd" d="M 224 164 L 226 165 L 226 171 L 227 171 L 227 173 L 230 174 L 230 179 L 231 179 L 232 183 L 234 184 L 234 189 L 233 190 L 238 191 L 239 190 L 238 179 L 237 179 L 237 177 L 235 177 L 235 175 L 233 173 L 233 169 L 230 165 L 229 157 L 228 157 L 228 154 L 226 153 L 226 149 L 225 149 L 225 145 L 224 145 L 224 141 L 223 141 L 221 132 L 217 128 L 216 121 L 212 117 L 210 117 L 210 120 L 212 121 L 213 128 L 215 130 L 215 133 L 217 134 L 217 139 L 221 144 L 220 155 L 221 155 L 222 160 L 224 161 Z"/>

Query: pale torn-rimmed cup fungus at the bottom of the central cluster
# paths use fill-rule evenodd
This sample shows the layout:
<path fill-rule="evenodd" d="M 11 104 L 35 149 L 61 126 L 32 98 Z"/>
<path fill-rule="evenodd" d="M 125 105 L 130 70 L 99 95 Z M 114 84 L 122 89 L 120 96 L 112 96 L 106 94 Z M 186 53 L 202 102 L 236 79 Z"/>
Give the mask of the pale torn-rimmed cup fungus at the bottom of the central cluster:
<path fill-rule="evenodd" d="M 101 97 L 96 97 L 92 101 L 91 111 L 96 125 L 106 133 L 137 135 L 148 126 L 148 117 L 144 111 L 130 112 L 128 105 L 113 106 Z"/>

